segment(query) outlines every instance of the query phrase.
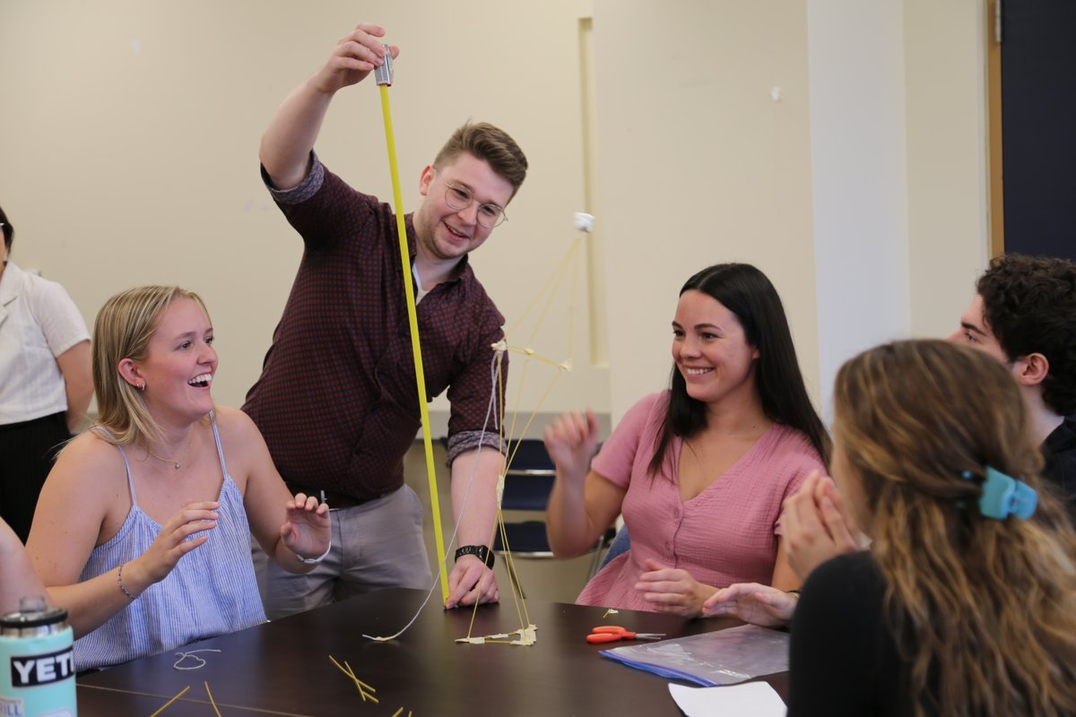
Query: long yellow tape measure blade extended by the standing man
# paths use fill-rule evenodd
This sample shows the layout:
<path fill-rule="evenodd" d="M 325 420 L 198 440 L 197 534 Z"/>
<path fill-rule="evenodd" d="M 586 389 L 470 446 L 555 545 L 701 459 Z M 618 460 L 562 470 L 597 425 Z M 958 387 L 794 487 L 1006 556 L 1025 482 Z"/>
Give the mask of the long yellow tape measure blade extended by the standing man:
<path fill-rule="evenodd" d="M 396 166 L 396 140 L 393 134 L 393 112 L 388 102 L 388 85 L 381 85 L 381 114 L 385 119 L 385 143 L 388 145 L 388 169 L 393 177 L 393 203 L 396 210 L 396 234 L 400 243 L 400 264 L 404 270 L 404 289 L 407 291 L 407 316 L 411 326 L 411 350 L 414 354 L 414 375 L 419 384 L 419 411 L 422 415 L 422 442 L 426 449 L 426 477 L 429 482 L 429 502 L 434 513 L 434 537 L 437 555 L 444 556 L 444 535 L 441 532 L 441 506 L 437 493 L 437 472 L 434 469 L 434 442 L 430 438 L 429 408 L 426 406 L 426 375 L 422 370 L 422 347 L 419 344 L 419 316 L 411 287 L 411 253 L 407 245 L 407 225 L 404 223 L 404 198 L 400 192 L 400 174 Z M 449 576 L 441 575 L 442 602 L 449 601 Z"/>

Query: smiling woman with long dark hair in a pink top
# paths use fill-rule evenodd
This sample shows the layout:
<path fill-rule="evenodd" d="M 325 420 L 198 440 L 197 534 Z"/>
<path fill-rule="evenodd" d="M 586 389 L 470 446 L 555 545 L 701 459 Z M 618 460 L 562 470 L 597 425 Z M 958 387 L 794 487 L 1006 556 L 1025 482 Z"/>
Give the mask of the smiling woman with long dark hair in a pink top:
<path fill-rule="evenodd" d="M 581 604 L 693 617 L 733 583 L 799 585 L 781 544 L 781 502 L 824 472 L 830 439 L 765 274 L 725 263 L 688 279 L 672 360 L 670 389 L 636 403 L 593 463 L 593 414 L 565 414 L 546 430 L 553 553 L 591 549 L 620 514 L 632 534 Z"/>

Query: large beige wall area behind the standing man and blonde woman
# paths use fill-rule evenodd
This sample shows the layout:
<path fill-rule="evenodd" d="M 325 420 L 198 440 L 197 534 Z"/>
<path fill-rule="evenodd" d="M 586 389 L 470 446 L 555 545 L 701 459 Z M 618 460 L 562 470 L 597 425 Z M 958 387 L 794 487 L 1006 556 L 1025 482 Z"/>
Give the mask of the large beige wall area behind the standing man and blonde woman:
<path fill-rule="evenodd" d="M 590 364 L 583 290 L 570 276 L 536 331 L 524 317 L 577 239 L 583 211 L 577 0 L 384 3 L 376 19 L 401 47 L 392 111 L 407 211 L 449 133 L 468 118 L 511 132 L 530 171 L 509 221 L 475 256 L 516 327 L 513 343 L 574 371 L 544 410 L 608 403 Z M 0 204 L 17 228 L 13 259 L 62 283 L 87 321 L 115 291 L 180 284 L 200 291 L 221 353 L 214 396 L 239 404 L 256 379 L 291 287 L 300 242 L 268 201 L 257 145 L 278 104 L 359 20 L 350 2 L 74 0 L 0 4 Z M 567 49 L 566 49 L 567 48 Z M 379 92 L 341 94 L 317 150 L 355 186 L 391 201 Z M 575 356 L 569 356 L 569 347 Z M 316 361 L 316 357 L 310 357 Z M 524 361 L 513 358 L 519 386 Z M 537 406 L 557 371 L 526 372 L 511 404 Z"/>

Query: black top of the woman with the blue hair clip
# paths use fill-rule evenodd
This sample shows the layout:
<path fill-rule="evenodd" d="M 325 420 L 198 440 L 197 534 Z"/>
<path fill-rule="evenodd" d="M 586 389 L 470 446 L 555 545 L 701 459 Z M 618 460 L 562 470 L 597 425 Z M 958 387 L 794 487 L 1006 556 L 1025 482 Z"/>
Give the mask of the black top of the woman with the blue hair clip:
<path fill-rule="evenodd" d="M 866 551 L 808 576 L 792 618 L 789 717 L 912 714 L 907 671 L 882 619 L 884 591 Z"/>

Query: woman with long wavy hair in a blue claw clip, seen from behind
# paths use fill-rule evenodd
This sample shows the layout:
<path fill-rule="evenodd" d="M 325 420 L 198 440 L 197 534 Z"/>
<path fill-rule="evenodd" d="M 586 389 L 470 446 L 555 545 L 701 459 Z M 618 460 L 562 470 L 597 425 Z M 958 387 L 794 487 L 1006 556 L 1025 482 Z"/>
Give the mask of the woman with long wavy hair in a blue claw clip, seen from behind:
<path fill-rule="evenodd" d="M 1006 368 L 889 344 L 840 369 L 835 408 L 833 477 L 874 543 L 804 585 L 789 714 L 1076 714 L 1076 534 Z"/>

